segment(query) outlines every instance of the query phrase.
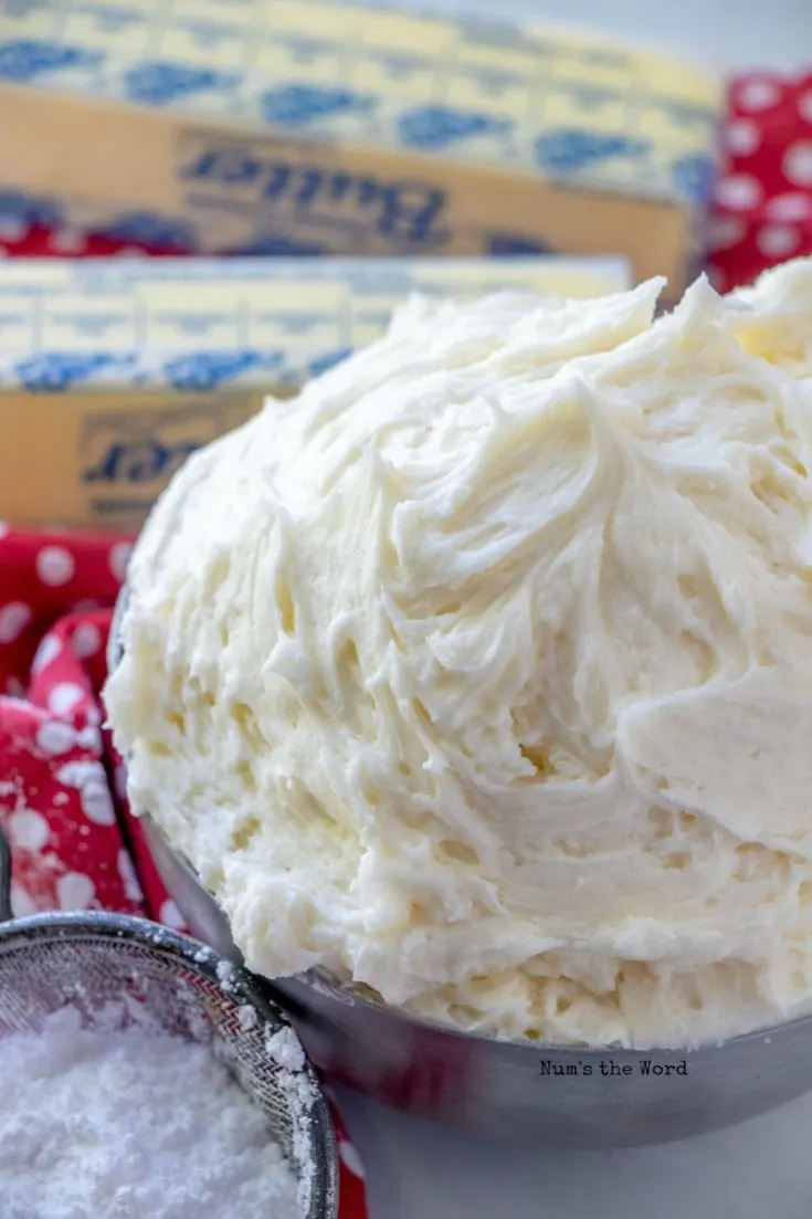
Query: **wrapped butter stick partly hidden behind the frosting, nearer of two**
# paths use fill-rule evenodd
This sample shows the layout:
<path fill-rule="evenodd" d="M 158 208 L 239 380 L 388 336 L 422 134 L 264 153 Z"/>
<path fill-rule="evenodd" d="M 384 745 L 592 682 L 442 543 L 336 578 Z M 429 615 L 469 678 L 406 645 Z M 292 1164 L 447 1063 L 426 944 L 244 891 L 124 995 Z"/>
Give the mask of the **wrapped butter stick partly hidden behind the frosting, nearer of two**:
<path fill-rule="evenodd" d="M 613 260 L 10 260 L 0 519 L 138 528 L 190 452 L 378 338 L 412 291 L 628 284 Z"/>

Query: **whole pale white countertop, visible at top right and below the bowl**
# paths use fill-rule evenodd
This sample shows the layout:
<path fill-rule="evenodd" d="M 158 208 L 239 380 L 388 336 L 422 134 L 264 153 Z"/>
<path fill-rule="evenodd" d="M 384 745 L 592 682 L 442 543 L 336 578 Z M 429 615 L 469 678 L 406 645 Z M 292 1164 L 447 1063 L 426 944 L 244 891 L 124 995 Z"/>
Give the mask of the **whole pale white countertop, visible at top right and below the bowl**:
<path fill-rule="evenodd" d="M 569 22 L 652 41 L 728 72 L 812 69 L 812 0 L 569 0 L 566 10 L 552 0 L 411 0 L 408 6 L 555 21 L 566 11 Z M 569 1154 L 494 1147 L 346 1091 L 340 1096 L 367 1167 L 371 1219 L 812 1215 L 812 1096 L 688 1142 Z"/>

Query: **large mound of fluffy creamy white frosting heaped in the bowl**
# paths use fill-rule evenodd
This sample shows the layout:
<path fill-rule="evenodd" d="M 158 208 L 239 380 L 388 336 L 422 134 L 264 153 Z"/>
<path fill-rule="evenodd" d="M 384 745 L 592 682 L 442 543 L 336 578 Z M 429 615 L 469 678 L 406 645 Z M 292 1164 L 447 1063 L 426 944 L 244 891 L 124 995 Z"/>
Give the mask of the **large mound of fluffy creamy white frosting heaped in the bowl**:
<path fill-rule="evenodd" d="M 812 265 L 413 299 L 194 455 L 106 701 L 251 968 L 501 1037 L 812 1009 Z"/>

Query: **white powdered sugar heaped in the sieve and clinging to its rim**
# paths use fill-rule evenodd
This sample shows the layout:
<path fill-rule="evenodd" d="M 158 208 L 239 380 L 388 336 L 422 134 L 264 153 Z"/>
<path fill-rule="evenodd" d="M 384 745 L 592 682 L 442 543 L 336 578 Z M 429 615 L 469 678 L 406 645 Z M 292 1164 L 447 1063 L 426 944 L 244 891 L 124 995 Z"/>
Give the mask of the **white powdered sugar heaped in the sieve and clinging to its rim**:
<path fill-rule="evenodd" d="M 291 1043 L 304 1064 L 293 1032 L 269 1039 L 279 1067 L 297 1061 Z M 307 1075 L 280 1075 L 301 1112 Z M 4 1219 L 299 1219 L 306 1201 L 211 1048 L 139 1026 L 88 1031 L 72 1008 L 40 1035 L 4 1037 L 0 1197 Z"/>

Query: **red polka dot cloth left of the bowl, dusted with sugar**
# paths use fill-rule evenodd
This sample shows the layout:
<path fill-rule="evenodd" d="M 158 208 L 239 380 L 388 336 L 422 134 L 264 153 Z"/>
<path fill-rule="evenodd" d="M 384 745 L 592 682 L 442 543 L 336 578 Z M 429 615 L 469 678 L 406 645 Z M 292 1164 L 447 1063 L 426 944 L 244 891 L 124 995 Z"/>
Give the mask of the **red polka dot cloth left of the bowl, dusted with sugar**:
<path fill-rule="evenodd" d="M 130 549 L 0 525 L 0 825 L 17 915 L 113 909 L 183 926 L 127 807 L 99 701 Z M 340 1219 L 365 1219 L 363 1168 L 330 1103 Z"/>

